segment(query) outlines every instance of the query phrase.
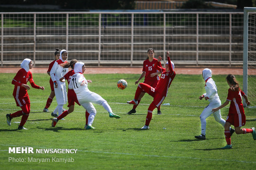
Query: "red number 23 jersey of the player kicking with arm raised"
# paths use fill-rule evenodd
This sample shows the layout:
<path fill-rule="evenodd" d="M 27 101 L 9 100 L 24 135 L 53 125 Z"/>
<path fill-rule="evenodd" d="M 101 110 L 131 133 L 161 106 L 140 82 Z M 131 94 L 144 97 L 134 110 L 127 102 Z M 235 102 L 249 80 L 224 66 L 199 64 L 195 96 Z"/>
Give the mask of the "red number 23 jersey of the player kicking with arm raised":
<path fill-rule="evenodd" d="M 168 59 L 168 66 L 170 68 L 170 71 L 168 72 L 166 72 L 165 68 L 159 67 L 156 64 L 154 65 L 154 67 L 161 72 L 161 77 L 156 86 L 156 91 L 163 96 L 167 96 L 168 88 L 171 86 L 171 82 L 173 81 L 176 75 L 175 71 L 173 71 L 173 68 L 171 66 L 170 57 L 167 57 L 167 59 Z"/>

